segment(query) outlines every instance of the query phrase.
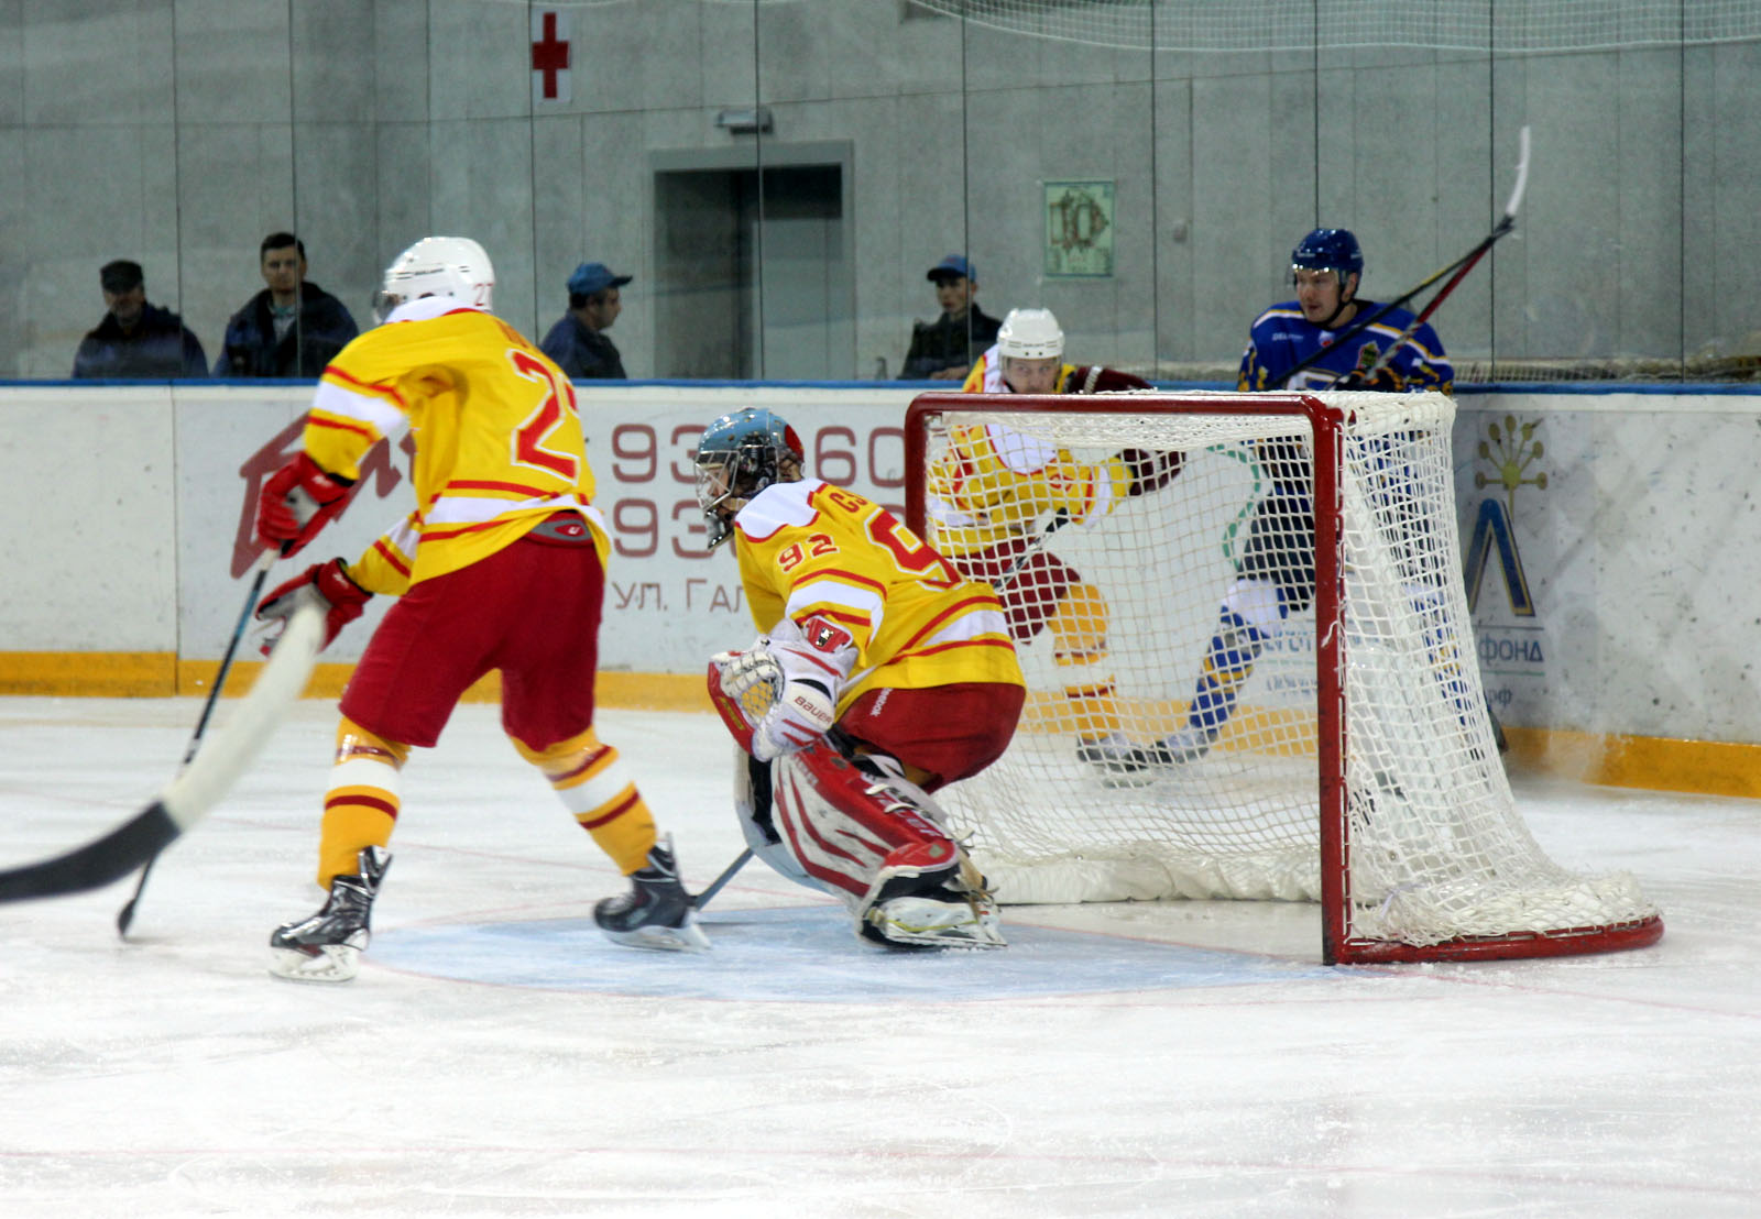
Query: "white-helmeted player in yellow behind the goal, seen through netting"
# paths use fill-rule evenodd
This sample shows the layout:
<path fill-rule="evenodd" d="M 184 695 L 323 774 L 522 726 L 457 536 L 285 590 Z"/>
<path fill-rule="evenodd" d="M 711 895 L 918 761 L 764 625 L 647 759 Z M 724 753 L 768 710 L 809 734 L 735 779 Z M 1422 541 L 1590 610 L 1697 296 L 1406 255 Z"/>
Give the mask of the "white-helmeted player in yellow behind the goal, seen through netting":
<path fill-rule="evenodd" d="M 1065 365 L 1064 331 L 1051 310 L 1014 308 L 997 345 L 972 368 L 965 393 L 1064 395 L 1150 389 L 1099 365 Z M 1018 643 L 1050 632 L 1064 703 L 1048 713 L 1076 738 L 1076 757 L 1102 768 L 1129 759 L 1106 595 L 1044 546 L 1065 525 L 1083 525 L 1116 504 L 1168 483 L 1178 454 L 1124 449 L 1078 462 L 1067 449 L 997 423 L 954 426 L 930 470 L 926 506 L 935 546 L 967 576 L 997 588 Z"/>

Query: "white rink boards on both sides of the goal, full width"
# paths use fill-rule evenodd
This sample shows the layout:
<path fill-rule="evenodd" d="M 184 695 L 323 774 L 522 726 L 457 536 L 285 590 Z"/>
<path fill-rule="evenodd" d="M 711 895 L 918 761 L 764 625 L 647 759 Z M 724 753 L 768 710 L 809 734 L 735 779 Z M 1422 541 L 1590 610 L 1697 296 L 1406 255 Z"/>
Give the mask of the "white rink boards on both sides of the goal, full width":
<path fill-rule="evenodd" d="M 731 557 L 701 553 L 689 453 L 715 416 L 770 405 L 801 433 L 812 472 L 903 504 L 900 423 L 912 388 L 578 389 L 616 546 L 601 639 L 608 671 L 699 673 L 710 654 L 752 636 Z M 0 652 L 218 659 L 243 597 L 252 472 L 278 465 L 308 398 L 308 386 L 289 382 L 0 386 Z M 1493 546 L 1474 601 L 1481 669 L 1506 717 L 1761 740 L 1761 518 L 1750 491 L 1761 396 L 1467 391 L 1458 407 L 1463 548 L 1485 500 L 1500 500 L 1522 571 L 1511 580 Z M 1513 454 L 1490 437 L 1492 426 L 1509 432 L 1506 419 L 1520 437 Z M 1539 454 L 1529 453 L 1536 442 Z M 313 560 L 354 557 L 409 511 L 402 458 L 396 467 L 368 479 Z M 1506 467 L 1514 486 L 1500 477 Z M 1513 585 L 1532 613 L 1513 608 Z M 366 625 L 382 611 L 370 610 Z M 366 638 L 356 625 L 328 655 L 352 659 Z"/>

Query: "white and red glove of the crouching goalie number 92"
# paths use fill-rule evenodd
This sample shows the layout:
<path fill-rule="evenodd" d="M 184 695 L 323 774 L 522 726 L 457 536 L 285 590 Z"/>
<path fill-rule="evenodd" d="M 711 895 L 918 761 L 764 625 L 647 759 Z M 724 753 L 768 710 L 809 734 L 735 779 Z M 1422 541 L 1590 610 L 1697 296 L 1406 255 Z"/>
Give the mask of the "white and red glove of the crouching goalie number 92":
<path fill-rule="evenodd" d="M 771 761 L 831 731 L 854 668 L 849 631 L 821 617 L 799 627 L 784 618 L 745 652 L 710 659 L 710 698 L 740 747 Z"/>

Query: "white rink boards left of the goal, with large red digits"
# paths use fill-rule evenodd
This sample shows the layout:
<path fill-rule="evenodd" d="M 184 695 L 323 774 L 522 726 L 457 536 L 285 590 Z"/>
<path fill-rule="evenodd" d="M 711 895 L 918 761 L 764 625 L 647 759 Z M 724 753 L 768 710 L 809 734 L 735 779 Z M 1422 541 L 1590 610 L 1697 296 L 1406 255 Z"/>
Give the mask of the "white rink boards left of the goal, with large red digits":
<path fill-rule="evenodd" d="M 731 551 L 703 551 L 690 451 L 720 414 L 778 410 L 810 469 L 903 513 L 910 389 L 578 386 L 613 534 L 601 668 L 697 673 L 748 643 Z M 0 652 L 218 659 L 250 578 L 261 479 L 292 453 L 303 384 L 0 388 Z M 354 558 L 410 511 L 407 460 L 372 462 L 349 511 L 271 581 Z M 387 599 L 368 608 L 365 625 Z M 361 655 L 352 625 L 326 652 Z"/>

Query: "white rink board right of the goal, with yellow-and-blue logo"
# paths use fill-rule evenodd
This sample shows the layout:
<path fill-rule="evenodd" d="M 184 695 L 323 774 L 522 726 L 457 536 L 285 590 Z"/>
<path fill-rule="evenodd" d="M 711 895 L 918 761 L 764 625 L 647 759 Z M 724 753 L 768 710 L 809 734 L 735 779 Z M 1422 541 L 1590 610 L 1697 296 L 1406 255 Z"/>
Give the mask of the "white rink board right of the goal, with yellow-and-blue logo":
<path fill-rule="evenodd" d="M 1497 500 L 1523 578 L 1497 548 L 1477 597 L 1467 573 L 1499 712 L 1761 742 L 1761 395 L 1485 393 L 1456 409 L 1462 550 Z M 1506 483 L 1500 465 L 1520 469 Z"/>

